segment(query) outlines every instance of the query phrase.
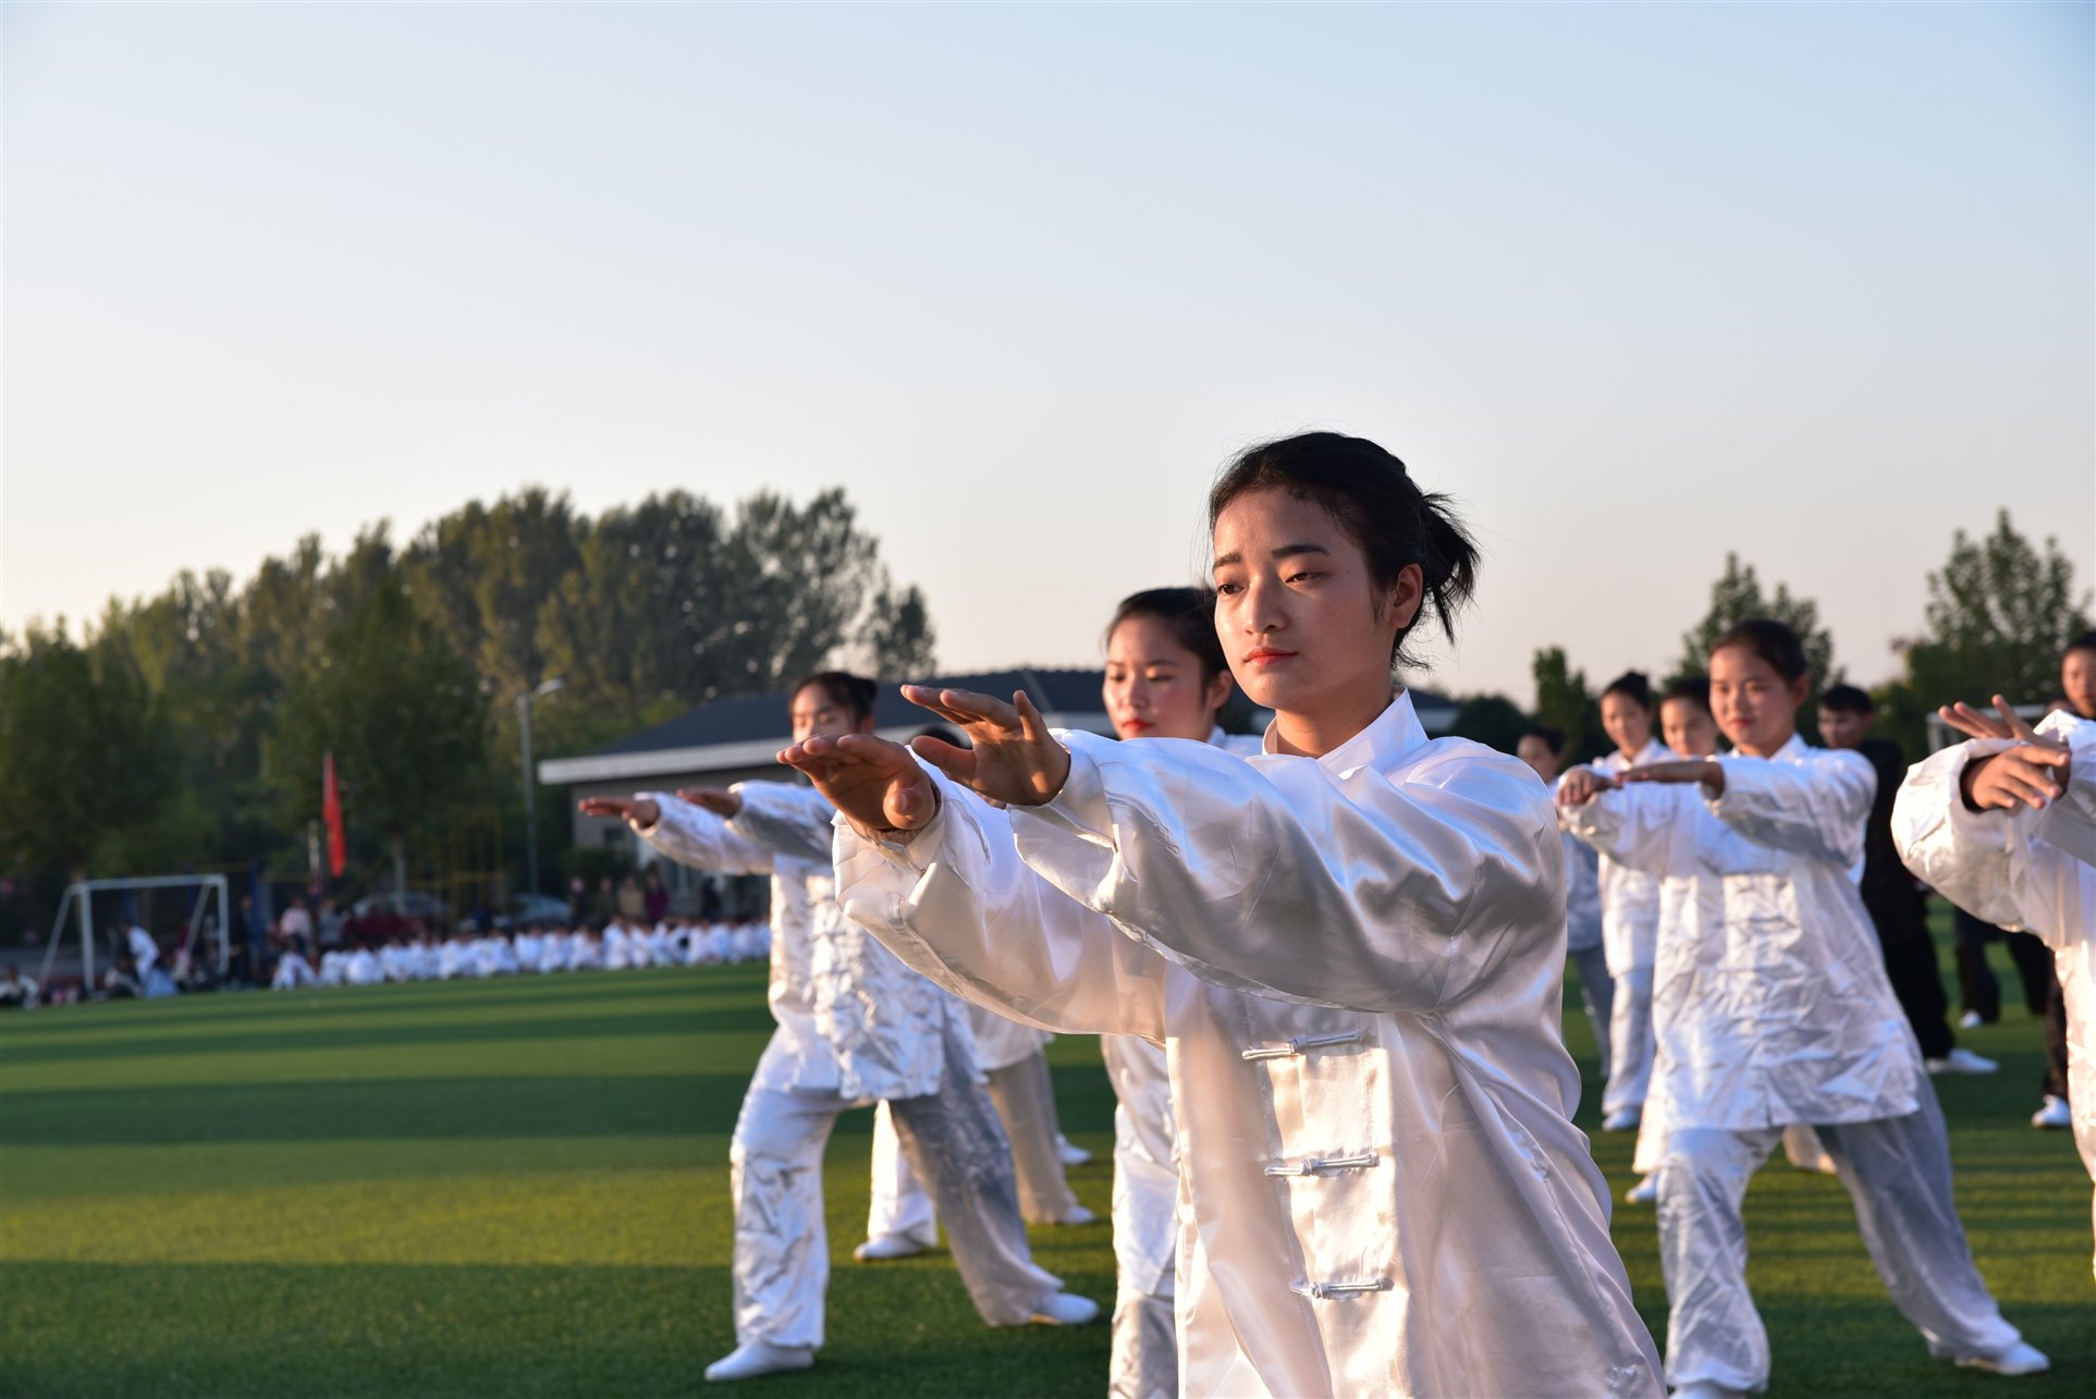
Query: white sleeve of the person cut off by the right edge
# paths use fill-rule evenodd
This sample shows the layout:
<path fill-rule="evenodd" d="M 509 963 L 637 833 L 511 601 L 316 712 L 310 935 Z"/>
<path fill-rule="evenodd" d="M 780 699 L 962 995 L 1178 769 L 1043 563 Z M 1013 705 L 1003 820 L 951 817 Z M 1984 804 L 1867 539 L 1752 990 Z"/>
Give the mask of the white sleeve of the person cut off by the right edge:
<path fill-rule="evenodd" d="M 2004 739 L 1974 739 L 1907 769 L 1893 798 L 1893 844 L 1916 878 L 1966 913 L 2073 947 L 2092 936 L 2096 867 L 2039 840 L 2042 813 L 1964 802 L 1966 764 L 2004 748 Z"/>

